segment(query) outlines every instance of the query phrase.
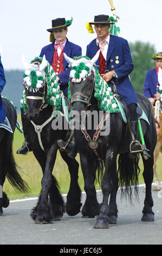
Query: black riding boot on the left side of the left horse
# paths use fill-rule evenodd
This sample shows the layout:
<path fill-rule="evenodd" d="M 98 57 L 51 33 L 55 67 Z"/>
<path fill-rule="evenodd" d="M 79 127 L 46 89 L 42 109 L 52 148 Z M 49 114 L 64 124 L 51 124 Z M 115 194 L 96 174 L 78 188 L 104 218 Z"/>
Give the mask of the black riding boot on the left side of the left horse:
<path fill-rule="evenodd" d="M 22 120 L 22 126 L 23 126 L 23 133 L 24 133 L 25 141 L 22 145 L 22 148 L 18 149 L 16 154 L 27 155 L 29 153 L 29 151 L 32 151 L 32 150 L 31 150 L 30 142 L 28 142 L 27 132 L 26 132 L 27 117 L 24 115 L 24 111 L 23 111 L 22 108 L 21 108 L 21 120 Z"/>

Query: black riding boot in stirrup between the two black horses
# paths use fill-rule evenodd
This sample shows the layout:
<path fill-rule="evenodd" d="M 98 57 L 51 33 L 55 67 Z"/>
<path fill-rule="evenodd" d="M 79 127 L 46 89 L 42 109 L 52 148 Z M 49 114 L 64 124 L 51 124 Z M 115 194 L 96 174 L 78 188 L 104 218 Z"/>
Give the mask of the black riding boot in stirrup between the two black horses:
<path fill-rule="evenodd" d="M 73 133 L 70 135 L 67 142 L 64 142 L 62 139 L 59 139 L 59 141 L 57 141 L 57 145 L 59 146 L 60 151 L 65 151 L 69 157 L 76 157 L 78 149 L 75 143 Z"/>

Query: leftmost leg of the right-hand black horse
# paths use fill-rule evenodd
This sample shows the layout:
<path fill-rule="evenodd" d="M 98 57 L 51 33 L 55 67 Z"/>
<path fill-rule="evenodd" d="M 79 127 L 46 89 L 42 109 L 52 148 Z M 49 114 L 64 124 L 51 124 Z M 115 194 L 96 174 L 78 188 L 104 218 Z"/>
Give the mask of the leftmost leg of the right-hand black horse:
<path fill-rule="evenodd" d="M 83 178 L 85 180 L 85 192 L 86 192 L 86 202 L 82 208 L 83 218 L 94 218 L 100 213 L 100 204 L 96 198 L 96 190 L 94 186 L 94 176 L 92 170 L 89 169 L 88 159 L 83 154 L 80 153 L 81 168 L 83 173 Z"/>

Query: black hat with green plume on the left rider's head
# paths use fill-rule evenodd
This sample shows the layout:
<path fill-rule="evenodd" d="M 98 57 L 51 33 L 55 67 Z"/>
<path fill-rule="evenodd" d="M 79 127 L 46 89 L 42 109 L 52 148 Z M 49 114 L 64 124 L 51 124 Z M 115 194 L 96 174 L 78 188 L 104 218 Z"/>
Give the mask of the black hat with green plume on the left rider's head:
<path fill-rule="evenodd" d="M 53 32 L 56 30 L 60 30 L 63 28 L 67 28 L 72 24 L 73 18 L 71 20 L 67 20 L 64 18 L 57 18 L 55 20 L 52 20 L 52 27 L 47 29 L 48 32 Z"/>

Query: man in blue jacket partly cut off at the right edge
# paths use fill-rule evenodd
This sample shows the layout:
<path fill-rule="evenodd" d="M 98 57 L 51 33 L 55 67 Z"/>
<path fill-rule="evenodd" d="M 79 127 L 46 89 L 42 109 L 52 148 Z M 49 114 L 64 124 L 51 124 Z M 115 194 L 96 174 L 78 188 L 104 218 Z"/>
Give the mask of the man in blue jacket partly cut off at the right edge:
<path fill-rule="evenodd" d="M 156 100 L 160 100 L 158 73 L 159 68 L 162 69 L 162 52 L 153 53 L 152 59 L 155 60 L 155 68 L 148 70 L 146 73 L 144 95 L 154 105 Z"/>

